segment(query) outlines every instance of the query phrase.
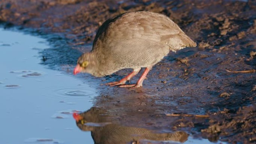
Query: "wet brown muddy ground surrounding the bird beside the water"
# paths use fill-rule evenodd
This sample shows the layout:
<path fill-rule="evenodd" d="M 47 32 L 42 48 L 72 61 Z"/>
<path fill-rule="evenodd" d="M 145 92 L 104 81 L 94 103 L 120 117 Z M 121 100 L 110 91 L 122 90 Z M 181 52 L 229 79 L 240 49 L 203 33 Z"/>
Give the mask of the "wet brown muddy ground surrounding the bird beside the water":
<path fill-rule="evenodd" d="M 102 85 L 131 70 L 103 78 L 80 75 L 98 88 L 95 106 L 122 126 L 256 143 L 255 0 L 0 0 L 0 22 L 46 37 L 54 48 L 41 52 L 42 64 L 71 73 L 106 19 L 142 10 L 169 16 L 198 46 L 170 52 L 143 88 Z"/>

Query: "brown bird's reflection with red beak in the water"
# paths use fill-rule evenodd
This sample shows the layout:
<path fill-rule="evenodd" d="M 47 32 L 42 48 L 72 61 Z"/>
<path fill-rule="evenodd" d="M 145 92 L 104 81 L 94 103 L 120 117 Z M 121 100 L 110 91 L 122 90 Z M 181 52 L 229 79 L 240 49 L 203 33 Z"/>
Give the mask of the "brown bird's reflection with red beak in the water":
<path fill-rule="evenodd" d="M 140 140 L 185 142 L 185 132 L 156 133 L 144 128 L 121 126 L 108 122 L 106 111 L 92 107 L 83 113 L 73 114 L 82 131 L 91 131 L 95 144 L 136 144 Z"/>

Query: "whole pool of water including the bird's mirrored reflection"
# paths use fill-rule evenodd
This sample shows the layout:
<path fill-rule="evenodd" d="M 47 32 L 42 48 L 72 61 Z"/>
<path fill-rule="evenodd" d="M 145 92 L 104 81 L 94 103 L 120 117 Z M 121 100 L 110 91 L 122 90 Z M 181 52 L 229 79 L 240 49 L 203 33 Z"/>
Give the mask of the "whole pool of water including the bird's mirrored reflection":
<path fill-rule="evenodd" d="M 94 87 L 39 64 L 38 53 L 49 48 L 48 42 L 3 29 L 0 40 L 1 144 L 211 143 L 182 131 L 160 133 L 113 123 L 109 113 L 92 107 Z"/>

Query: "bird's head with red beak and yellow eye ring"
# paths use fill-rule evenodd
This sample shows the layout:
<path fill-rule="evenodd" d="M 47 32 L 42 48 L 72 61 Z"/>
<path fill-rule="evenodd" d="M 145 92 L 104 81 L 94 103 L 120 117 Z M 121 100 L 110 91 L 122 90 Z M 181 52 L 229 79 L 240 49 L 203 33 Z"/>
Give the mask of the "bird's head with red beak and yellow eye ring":
<path fill-rule="evenodd" d="M 77 65 L 74 68 L 73 74 L 77 73 L 90 73 L 94 74 L 96 68 L 94 56 L 87 52 L 83 53 L 77 60 Z"/>

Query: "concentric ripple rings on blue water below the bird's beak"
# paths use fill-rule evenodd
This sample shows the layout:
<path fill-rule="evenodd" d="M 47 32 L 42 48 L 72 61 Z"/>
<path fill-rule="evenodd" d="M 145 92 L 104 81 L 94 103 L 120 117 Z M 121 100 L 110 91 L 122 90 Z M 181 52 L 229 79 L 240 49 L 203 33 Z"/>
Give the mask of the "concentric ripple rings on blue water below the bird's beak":
<path fill-rule="evenodd" d="M 90 98 L 93 96 L 94 91 L 83 86 L 77 87 L 53 87 L 52 96 L 57 98 Z"/>

